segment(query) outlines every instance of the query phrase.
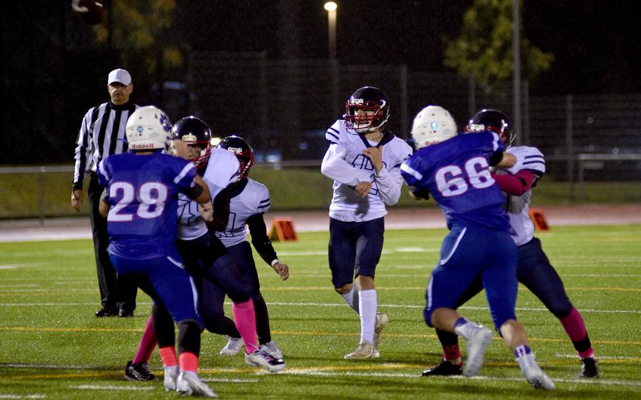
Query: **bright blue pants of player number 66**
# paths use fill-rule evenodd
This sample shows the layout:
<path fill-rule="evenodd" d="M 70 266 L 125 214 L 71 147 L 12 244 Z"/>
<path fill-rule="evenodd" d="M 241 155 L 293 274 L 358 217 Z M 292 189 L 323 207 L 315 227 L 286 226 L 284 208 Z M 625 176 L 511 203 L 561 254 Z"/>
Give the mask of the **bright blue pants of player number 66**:
<path fill-rule="evenodd" d="M 443 240 L 441 258 L 425 293 L 425 323 L 432 311 L 455 309 L 463 293 L 480 279 L 485 287 L 494 327 L 516 320 L 516 244 L 508 232 L 482 225 L 454 225 Z"/>

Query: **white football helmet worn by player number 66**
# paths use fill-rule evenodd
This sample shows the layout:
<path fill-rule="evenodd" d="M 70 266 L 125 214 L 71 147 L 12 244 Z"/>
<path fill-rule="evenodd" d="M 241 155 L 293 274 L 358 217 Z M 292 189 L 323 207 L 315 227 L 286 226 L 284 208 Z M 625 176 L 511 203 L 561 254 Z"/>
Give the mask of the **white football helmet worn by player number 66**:
<path fill-rule="evenodd" d="M 417 150 L 454 137 L 456 133 L 454 118 L 441 106 L 423 108 L 416 114 L 411 130 Z"/>

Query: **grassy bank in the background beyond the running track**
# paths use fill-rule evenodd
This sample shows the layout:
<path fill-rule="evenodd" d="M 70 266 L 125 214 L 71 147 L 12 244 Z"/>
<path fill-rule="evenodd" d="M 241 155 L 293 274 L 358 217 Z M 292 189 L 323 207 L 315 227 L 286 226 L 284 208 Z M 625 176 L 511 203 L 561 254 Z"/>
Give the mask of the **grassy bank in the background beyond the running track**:
<path fill-rule="evenodd" d="M 284 168 L 274 170 L 255 167 L 251 177 L 270 189 L 273 210 L 327 209 L 332 200 L 332 181 L 321 175 L 318 168 Z M 77 216 L 70 206 L 71 173 L 0 174 L 0 219 L 36 218 L 39 215 L 40 192 L 43 213 L 46 217 Z M 25 182 L 28 182 L 25 185 Z M 573 204 L 578 202 L 579 187 L 575 185 L 571 199 L 567 182 L 554 182 L 544 178 L 545 185 L 536 189 L 537 205 Z M 42 187 L 42 189 L 41 189 Z M 585 182 L 586 203 L 637 203 L 641 199 L 640 182 Z M 85 200 L 87 193 L 85 190 Z M 435 207 L 434 201 L 414 201 L 406 187 L 398 206 Z M 88 215 L 87 201 L 81 215 Z"/>

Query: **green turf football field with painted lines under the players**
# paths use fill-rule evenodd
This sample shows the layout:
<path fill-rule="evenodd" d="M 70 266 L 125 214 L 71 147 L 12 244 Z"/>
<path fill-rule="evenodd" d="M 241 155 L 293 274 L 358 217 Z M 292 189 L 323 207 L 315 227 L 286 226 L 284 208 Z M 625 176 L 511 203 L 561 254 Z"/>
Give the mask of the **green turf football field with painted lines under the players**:
<path fill-rule="evenodd" d="M 425 284 L 444 230 L 386 233 L 378 265 L 380 311 L 390 317 L 381 358 L 346 361 L 359 320 L 335 294 L 327 266 L 328 233 L 301 233 L 275 244 L 291 277 L 259 265 L 273 337 L 287 368 L 268 374 L 242 356 L 223 358 L 225 338 L 205 333 L 201 376 L 222 399 L 639 399 L 641 398 L 641 225 L 553 227 L 544 248 L 583 313 L 602 377 L 578 378 L 580 363 L 552 314 L 521 287 L 517 315 L 556 392 L 537 392 L 502 340 L 494 337 L 480 377 L 423 378 L 440 345 L 423 323 Z M 89 240 L 0 244 L 0 399 L 171 399 L 162 382 L 127 382 L 149 314 L 138 296 L 135 318 L 95 318 L 99 294 Z M 226 306 L 230 313 L 230 306 Z M 483 296 L 461 311 L 491 325 Z M 465 354 L 464 345 L 461 350 Z M 152 369 L 162 370 L 157 352 Z"/>

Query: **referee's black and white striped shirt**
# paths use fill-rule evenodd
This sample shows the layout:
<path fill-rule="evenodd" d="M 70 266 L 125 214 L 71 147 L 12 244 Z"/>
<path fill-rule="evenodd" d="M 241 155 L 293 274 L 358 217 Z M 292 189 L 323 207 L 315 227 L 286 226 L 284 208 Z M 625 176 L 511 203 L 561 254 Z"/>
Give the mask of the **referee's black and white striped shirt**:
<path fill-rule="evenodd" d="M 129 115 L 138 107 L 129 102 L 116 106 L 108 101 L 89 108 L 85 118 L 82 118 L 75 148 L 74 190 L 82 189 L 85 173 L 96 172 L 103 158 L 127 151 L 125 127 Z"/>

